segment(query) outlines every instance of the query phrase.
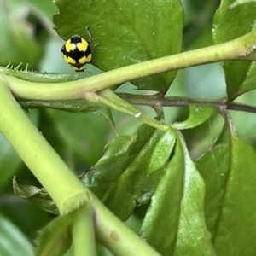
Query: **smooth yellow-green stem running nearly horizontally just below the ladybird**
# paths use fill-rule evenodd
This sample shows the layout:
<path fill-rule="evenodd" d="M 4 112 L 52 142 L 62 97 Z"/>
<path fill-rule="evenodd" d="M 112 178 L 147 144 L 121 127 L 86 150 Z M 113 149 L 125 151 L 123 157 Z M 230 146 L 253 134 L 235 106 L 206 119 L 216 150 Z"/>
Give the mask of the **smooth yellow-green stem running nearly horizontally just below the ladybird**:
<path fill-rule="evenodd" d="M 66 83 L 34 83 L 8 76 L 9 88 L 16 98 L 38 100 L 75 100 L 84 99 L 84 93 L 106 89 L 132 79 L 143 78 L 155 73 L 164 73 L 184 67 L 205 63 L 250 59 L 256 44 L 256 33 L 247 33 L 224 44 L 216 44 L 203 49 L 195 49 L 177 55 L 166 56 L 152 61 L 144 61 L 127 67 L 101 73 L 90 78 Z"/>

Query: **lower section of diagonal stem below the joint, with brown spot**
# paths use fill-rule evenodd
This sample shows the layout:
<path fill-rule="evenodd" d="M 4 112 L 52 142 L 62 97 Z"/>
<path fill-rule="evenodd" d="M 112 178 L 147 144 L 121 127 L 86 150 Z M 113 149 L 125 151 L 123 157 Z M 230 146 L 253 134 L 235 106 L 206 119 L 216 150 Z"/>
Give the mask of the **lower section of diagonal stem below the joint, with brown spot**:
<path fill-rule="evenodd" d="M 152 247 L 126 227 L 102 202 L 95 198 L 95 226 L 98 241 L 118 256 L 160 256 Z"/>

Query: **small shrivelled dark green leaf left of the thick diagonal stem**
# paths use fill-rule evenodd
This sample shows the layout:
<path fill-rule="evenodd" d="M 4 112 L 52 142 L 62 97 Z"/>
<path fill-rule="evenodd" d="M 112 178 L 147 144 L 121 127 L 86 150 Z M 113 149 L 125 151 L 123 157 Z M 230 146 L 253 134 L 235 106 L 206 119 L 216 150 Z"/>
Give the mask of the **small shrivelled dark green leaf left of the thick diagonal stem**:
<path fill-rule="evenodd" d="M 59 211 L 55 206 L 55 202 L 50 198 L 47 192 L 44 189 L 38 189 L 34 186 L 20 185 L 16 182 L 16 178 L 13 180 L 13 188 L 15 195 L 32 201 L 41 207 L 44 211 L 50 212 L 53 214 L 58 214 Z"/>

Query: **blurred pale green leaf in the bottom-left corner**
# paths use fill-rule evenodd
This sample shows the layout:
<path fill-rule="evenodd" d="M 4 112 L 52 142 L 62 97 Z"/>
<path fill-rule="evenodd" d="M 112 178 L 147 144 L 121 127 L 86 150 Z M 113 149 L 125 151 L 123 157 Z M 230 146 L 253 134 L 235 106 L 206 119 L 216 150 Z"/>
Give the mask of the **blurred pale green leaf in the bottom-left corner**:
<path fill-rule="evenodd" d="M 19 252 L 19 253 L 18 253 Z M 17 254 L 18 253 L 18 254 Z M 20 230 L 0 213 L 0 255 L 32 256 L 32 244 Z"/>

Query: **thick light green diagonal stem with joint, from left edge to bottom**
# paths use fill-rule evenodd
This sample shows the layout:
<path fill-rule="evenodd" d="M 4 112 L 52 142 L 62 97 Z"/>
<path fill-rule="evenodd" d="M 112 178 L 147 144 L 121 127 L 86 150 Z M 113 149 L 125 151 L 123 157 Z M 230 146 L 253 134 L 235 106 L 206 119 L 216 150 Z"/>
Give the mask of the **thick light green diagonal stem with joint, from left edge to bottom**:
<path fill-rule="evenodd" d="M 0 109 L 2 111 L 0 131 L 48 191 L 61 214 L 82 206 L 93 207 L 96 214 L 96 235 L 113 253 L 120 256 L 159 256 L 152 247 L 127 228 L 84 187 L 46 142 L 43 135 L 32 125 L 5 83 L 6 81 L 0 78 Z M 81 255 L 82 242 L 85 244 L 85 239 L 92 238 L 90 208 L 88 211 L 87 217 L 84 218 L 84 213 L 81 213 L 78 223 L 74 223 L 73 226 L 73 236 L 79 239 L 74 245 L 76 255 Z M 113 240 L 115 235 L 118 235 L 119 242 Z M 91 252 L 94 251 L 92 247 L 90 247 Z M 134 254 L 136 251 L 139 253 Z"/>

